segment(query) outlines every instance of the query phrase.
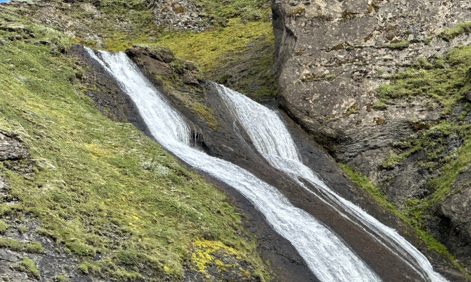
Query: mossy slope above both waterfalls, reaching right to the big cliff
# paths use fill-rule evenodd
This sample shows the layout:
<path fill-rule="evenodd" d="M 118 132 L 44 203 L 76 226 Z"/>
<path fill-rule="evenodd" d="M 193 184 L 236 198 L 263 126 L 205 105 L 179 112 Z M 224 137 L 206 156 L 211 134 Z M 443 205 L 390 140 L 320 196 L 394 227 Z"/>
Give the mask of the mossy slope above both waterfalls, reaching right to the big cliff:
<path fill-rule="evenodd" d="M 217 18 L 211 21 L 219 24 L 209 25 L 200 33 L 164 31 L 165 26 L 153 24 L 152 4 L 144 0 L 85 0 L 73 3 L 54 0 L 47 5 L 31 5 L 26 10 L 15 5 L 3 6 L 4 13 L 9 14 L 9 18 L 16 23 L 29 23 L 31 19 L 45 21 L 41 7 L 54 7 L 55 16 L 49 26 L 66 31 L 73 43 L 96 49 L 118 52 L 138 44 L 170 47 L 177 56 L 195 61 L 205 77 L 219 83 L 226 83 L 226 77 L 234 74 L 229 66 L 247 65 L 249 71 L 241 78 L 234 78 L 235 83 L 229 86 L 259 100 L 275 96 L 277 87 L 270 71 L 274 36 L 272 25 L 268 22 L 271 12 L 269 1 L 194 2 L 203 7 L 204 17 Z M 71 22 L 74 24 L 70 25 Z M 261 47 L 249 48 L 253 43 Z"/>

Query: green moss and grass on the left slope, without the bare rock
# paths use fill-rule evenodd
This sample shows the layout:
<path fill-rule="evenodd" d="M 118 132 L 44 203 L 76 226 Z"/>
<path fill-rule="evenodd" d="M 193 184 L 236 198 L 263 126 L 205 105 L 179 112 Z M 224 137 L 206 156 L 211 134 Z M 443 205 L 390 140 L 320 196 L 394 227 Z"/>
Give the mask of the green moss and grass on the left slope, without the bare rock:
<path fill-rule="evenodd" d="M 27 28 L 41 34 L 43 27 Z M 47 31 L 44 37 L 56 36 Z M 13 172 L 3 162 L 8 194 L 19 204 L 2 205 L 2 214 L 30 214 L 39 234 L 104 277 L 178 277 L 193 241 L 203 237 L 236 250 L 267 279 L 254 243 L 235 235 L 244 230 L 223 194 L 132 125 L 102 116 L 82 94 L 83 71 L 71 59 L 50 46 L 11 41 L 12 34 L 0 31 L 0 128 L 19 133 L 32 159 L 56 169 L 24 160 Z M 166 169 L 146 169 L 149 162 Z M 120 251 L 137 260 L 123 260 Z"/>

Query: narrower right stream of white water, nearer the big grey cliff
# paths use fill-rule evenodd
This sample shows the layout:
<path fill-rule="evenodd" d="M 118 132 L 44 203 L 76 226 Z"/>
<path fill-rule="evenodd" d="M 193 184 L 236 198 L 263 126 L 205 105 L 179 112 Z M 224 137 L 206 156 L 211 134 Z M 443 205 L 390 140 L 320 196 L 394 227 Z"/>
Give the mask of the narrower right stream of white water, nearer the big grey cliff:
<path fill-rule="evenodd" d="M 268 163 L 288 174 L 298 184 L 324 200 L 326 204 L 329 204 L 345 218 L 350 219 L 349 216 L 351 216 L 357 219 L 371 230 L 368 234 L 402 258 L 407 265 L 426 281 L 447 282 L 443 276 L 433 271 L 433 267 L 428 259 L 404 237 L 399 235 L 394 229 L 382 224 L 357 205 L 335 193 L 327 187 L 324 181 L 319 179 L 314 171 L 302 163 L 296 149 L 297 147 L 279 112 L 268 109 L 245 95 L 225 86 L 215 85 L 221 98 L 226 102 L 228 109 L 233 112 L 235 118 L 238 119 L 249 134 L 255 148 Z M 301 179 L 305 179 L 317 187 L 318 192 L 322 193 L 322 197 L 306 187 Z M 327 201 L 323 198 L 327 199 Z"/>

